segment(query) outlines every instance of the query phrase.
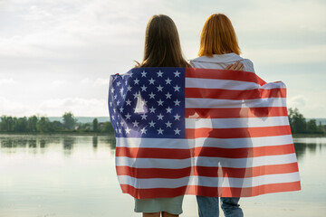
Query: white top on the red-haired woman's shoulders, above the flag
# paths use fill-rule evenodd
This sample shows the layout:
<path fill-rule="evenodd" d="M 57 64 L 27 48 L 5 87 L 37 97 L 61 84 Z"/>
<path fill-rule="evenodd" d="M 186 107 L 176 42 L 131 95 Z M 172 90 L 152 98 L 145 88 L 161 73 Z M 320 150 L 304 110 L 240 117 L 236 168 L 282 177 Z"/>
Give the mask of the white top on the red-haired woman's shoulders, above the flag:
<path fill-rule="evenodd" d="M 226 54 L 214 54 L 213 57 L 197 57 L 190 60 L 190 65 L 194 68 L 224 70 L 227 65 L 241 61 L 244 63 L 244 71 L 254 72 L 254 64 L 248 59 L 244 59 L 234 52 Z"/>

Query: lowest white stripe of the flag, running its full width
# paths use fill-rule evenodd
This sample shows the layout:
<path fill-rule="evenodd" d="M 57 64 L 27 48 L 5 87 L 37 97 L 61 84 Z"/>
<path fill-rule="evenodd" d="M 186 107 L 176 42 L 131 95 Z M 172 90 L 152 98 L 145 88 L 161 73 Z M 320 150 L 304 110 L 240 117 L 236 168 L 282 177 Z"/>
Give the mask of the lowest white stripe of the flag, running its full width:
<path fill-rule="evenodd" d="M 149 178 L 137 179 L 129 175 L 118 175 L 120 184 L 129 184 L 139 189 L 149 188 L 177 188 L 185 185 L 199 185 L 206 187 L 237 187 L 246 188 L 263 184 L 281 184 L 300 181 L 299 173 L 278 175 L 260 175 L 249 178 L 223 178 L 206 176 L 188 176 L 178 179 Z M 199 181 L 200 179 L 200 181 Z"/>

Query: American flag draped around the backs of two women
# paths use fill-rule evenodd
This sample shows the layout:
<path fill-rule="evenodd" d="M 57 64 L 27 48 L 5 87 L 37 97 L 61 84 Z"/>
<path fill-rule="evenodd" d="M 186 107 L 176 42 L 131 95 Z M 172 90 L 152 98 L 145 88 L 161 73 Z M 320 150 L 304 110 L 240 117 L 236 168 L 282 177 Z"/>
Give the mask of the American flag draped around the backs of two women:
<path fill-rule="evenodd" d="M 301 189 L 283 82 L 253 72 L 138 68 L 110 78 L 123 193 L 248 197 Z"/>

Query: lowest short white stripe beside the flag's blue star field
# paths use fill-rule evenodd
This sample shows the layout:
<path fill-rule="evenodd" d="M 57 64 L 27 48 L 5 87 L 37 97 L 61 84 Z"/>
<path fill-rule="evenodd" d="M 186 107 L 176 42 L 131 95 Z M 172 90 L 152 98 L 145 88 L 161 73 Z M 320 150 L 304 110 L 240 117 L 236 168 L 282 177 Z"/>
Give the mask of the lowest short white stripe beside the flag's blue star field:
<path fill-rule="evenodd" d="M 186 128 L 240 128 L 240 127 L 274 127 L 289 125 L 289 118 L 186 118 Z"/>

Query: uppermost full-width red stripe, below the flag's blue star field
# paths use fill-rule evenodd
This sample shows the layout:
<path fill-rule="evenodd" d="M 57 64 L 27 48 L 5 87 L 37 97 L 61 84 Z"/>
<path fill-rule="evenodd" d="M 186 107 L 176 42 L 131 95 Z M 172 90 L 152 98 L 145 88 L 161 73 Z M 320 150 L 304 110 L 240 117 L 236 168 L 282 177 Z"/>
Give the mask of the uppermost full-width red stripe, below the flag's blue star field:
<path fill-rule="evenodd" d="M 292 144 L 282 146 L 259 146 L 241 148 L 199 146 L 191 149 L 116 147 L 116 156 L 158 159 L 187 159 L 191 156 L 245 158 L 255 156 L 278 156 L 292 153 L 294 153 Z"/>

